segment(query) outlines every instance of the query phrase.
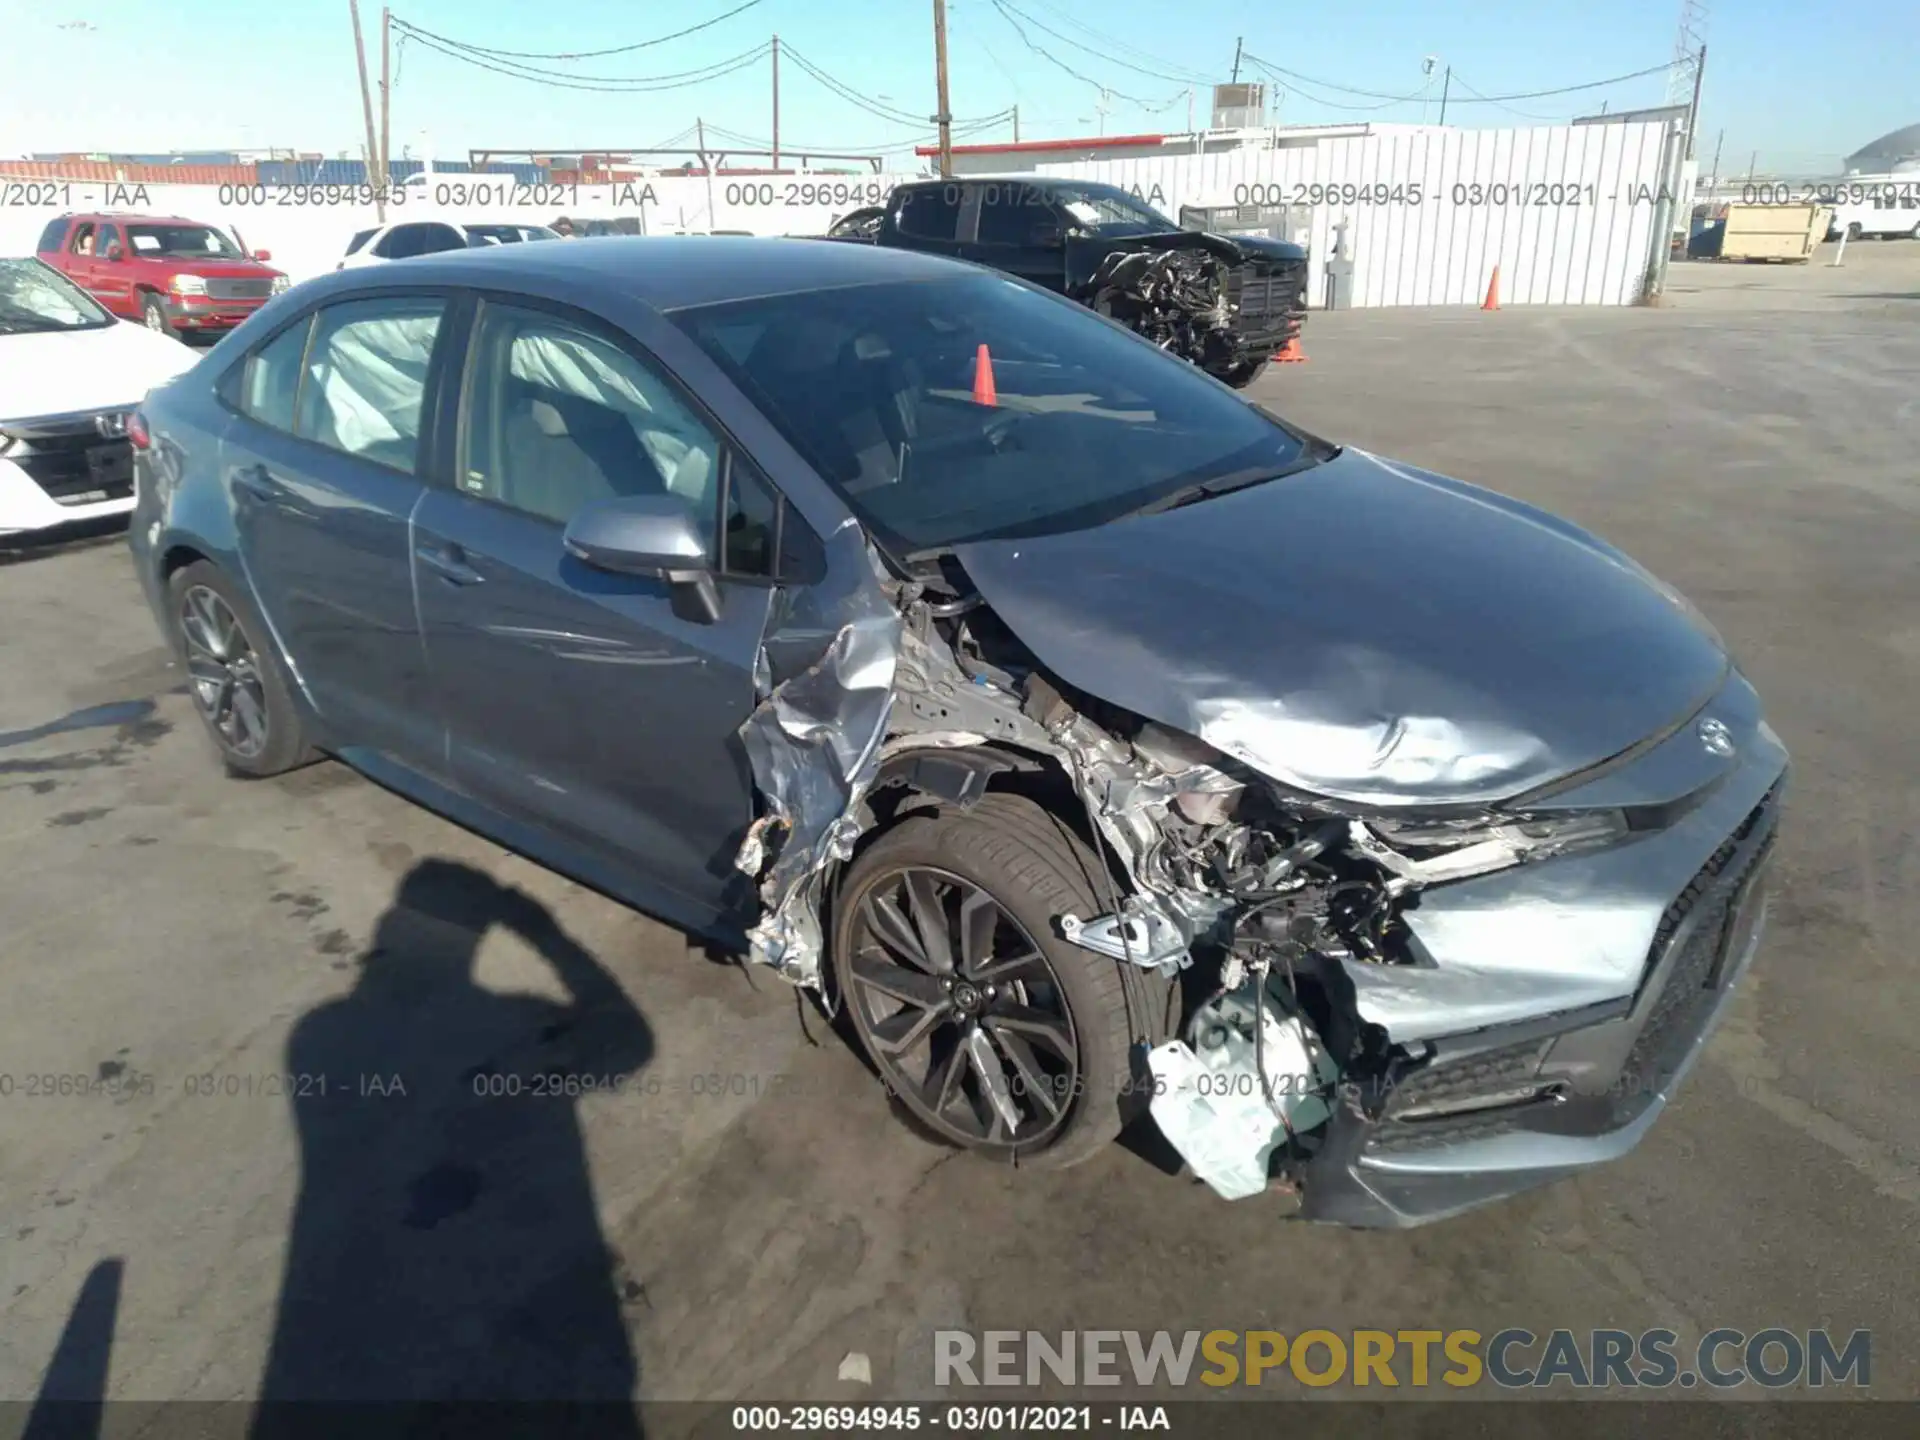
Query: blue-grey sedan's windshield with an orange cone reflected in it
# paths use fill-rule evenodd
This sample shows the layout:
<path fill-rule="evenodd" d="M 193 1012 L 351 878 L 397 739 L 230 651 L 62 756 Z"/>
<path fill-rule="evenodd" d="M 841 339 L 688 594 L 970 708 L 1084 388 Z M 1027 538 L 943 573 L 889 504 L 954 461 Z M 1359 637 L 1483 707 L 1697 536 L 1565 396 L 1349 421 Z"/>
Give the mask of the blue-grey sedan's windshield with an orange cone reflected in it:
<path fill-rule="evenodd" d="M 1194 367 L 1002 275 L 672 319 L 897 553 L 1081 530 L 1306 455 Z"/>

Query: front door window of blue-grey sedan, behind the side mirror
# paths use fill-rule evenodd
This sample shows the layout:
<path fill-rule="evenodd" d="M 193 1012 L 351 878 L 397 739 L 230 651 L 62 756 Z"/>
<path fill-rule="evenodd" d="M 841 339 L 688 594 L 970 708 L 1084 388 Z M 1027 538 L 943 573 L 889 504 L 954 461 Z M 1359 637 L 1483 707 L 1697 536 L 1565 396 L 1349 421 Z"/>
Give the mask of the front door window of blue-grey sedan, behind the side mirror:
<path fill-rule="evenodd" d="M 616 495 L 678 495 L 714 541 L 720 442 L 611 336 L 488 303 L 467 396 L 461 488 L 566 524 Z"/>

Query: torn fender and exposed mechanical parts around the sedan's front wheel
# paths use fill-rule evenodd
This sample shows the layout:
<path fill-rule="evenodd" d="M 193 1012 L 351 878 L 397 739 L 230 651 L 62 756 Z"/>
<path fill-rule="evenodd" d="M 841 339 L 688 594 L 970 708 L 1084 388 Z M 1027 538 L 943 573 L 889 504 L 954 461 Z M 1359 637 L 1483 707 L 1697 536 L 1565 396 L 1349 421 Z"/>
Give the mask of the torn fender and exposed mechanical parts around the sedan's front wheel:
<path fill-rule="evenodd" d="M 1106 908 L 1058 914 L 1058 935 L 1181 981 L 1183 1021 L 1146 1054 L 1150 1110 L 1225 1198 L 1284 1183 L 1336 1104 L 1377 1117 L 1430 1056 L 1356 1000 L 1356 975 L 1430 964 L 1404 924 L 1423 887 L 1617 839 L 1590 816 L 1361 818 L 1302 797 L 1052 676 L 950 561 L 910 580 L 872 561 L 885 601 L 741 732 L 766 803 L 735 860 L 762 900 L 753 958 L 826 987 L 824 897 L 902 762 L 993 756 L 954 766 L 935 797 L 952 804 L 995 770 L 1052 778 L 1106 860 Z"/>

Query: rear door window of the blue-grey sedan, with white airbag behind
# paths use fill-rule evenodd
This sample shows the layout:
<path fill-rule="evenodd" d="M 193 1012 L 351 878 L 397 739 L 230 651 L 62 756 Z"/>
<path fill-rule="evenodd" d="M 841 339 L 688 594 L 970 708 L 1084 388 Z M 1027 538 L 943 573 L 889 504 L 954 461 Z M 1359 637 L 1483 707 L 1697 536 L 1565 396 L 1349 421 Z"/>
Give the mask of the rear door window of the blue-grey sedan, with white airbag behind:
<path fill-rule="evenodd" d="M 413 470 L 426 367 L 445 301 L 378 296 L 315 317 L 294 432 L 396 470 Z"/>

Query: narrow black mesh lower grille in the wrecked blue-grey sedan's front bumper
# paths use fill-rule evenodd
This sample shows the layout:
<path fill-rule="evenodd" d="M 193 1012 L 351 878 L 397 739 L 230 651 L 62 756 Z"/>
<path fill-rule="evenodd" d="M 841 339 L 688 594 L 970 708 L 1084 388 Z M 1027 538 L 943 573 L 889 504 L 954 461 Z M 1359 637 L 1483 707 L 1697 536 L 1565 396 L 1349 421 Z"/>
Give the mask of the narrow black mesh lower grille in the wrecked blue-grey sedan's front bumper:
<path fill-rule="evenodd" d="M 1617 1116 L 1622 1123 L 1644 1110 L 1647 1100 L 1667 1085 L 1720 998 L 1720 981 L 1724 979 L 1720 962 L 1732 958 L 1722 956 L 1722 950 L 1726 948 L 1728 925 L 1734 920 L 1734 900 L 1766 856 L 1770 841 L 1743 858 L 1740 851 L 1757 831 L 1772 824 L 1776 799 L 1778 787 L 1753 808 L 1740 829 L 1726 837 L 1661 916 L 1647 958 L 1649 979 L 1682 924 L 1695 916 L 1697 920 L 1661 981 L 1647 1020 L 1640 1027 L 1640 1037 L 1620 1069 L 1615 1096 Z"/>

